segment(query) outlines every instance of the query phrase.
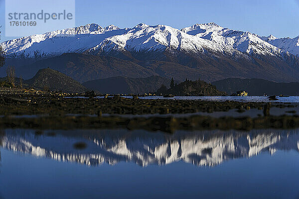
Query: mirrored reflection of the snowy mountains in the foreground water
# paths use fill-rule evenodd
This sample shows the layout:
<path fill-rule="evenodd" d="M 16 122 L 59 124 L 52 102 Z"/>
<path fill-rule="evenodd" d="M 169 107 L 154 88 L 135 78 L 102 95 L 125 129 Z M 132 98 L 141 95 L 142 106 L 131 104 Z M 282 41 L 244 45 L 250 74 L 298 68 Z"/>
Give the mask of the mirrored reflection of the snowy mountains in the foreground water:
<path fill-rule="evenodd" d="M 262 151 L 299 150 L 298 130 L 206 131 L 174 134 L 129 130 L 0 131 L 3 148 L 88 166 L 133 162 L 140 166 L 177 161 L 215 166 Z"/>

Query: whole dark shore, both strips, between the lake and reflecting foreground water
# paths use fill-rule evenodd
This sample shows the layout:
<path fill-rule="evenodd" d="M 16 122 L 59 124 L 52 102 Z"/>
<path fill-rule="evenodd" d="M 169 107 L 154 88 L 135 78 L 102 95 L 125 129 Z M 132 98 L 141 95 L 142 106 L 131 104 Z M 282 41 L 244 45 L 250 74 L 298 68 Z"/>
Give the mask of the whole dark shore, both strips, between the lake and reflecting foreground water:
<path fill-rule="evenodd" d="M 297 106 L 291 103 L 74 96 L 76 95 L 36 91 L 31 94 L 0 95 L 0 128 L 127 128 L 174 132 L 175 130 L 299 127 L 299 116 L 295 114 L 296 112 L 293 115 L 270 115 L 272 107 L 282 108 L 284 112 L 283 108 Z M 236 112 L 236 116 L 219 118 L 200 114 L 229 110 L 245 112 L 254 108 L 261 110 L 263 114 L 257 117 L 240 117 Z M 185 115 L 187 113 L 196 114 Z"/>

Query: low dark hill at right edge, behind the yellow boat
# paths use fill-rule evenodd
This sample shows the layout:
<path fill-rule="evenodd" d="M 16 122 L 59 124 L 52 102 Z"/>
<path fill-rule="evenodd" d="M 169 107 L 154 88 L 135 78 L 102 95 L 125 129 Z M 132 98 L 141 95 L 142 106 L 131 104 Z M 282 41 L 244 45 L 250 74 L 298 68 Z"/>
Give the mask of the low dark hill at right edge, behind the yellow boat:
<path fill-rule="evenodd" d="M 236 93 L 236 91 L 246 90 L 250 96 L 268 96 L 273 95 L 299 95 L 299 83 L 276 83 L 262 79 L 239 79 L 230 78 L 212 82 L 212 85 L 220 91 L 227 94 Z"/>

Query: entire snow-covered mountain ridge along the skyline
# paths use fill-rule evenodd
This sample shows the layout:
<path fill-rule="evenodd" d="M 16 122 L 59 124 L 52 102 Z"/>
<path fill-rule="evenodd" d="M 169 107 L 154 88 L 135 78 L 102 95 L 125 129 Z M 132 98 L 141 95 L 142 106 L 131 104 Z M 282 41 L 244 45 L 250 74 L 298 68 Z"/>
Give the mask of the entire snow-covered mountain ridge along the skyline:
<path fill-rule="evenodd" d="M 195 32 L 196 34 L 195 34 Z M 185 34 L 184 34 L 185 33 Z M 165 34 L 165 35 L 163 35 Z M 78 35 L 81 35 L 81 37 L 77 37 Z M 142 39 L 141 35 L 148 36 L 147 40 L 142 40 L 143 42 L 133 42 L 132 38 L 135 38 L 135 40 Z M 189 36 L 188 36 L 189 35 Z M 225 37 L 224 41 L 220 42 L 219 36 Z M 89 36 L 97 36 L 95 41 L 85 44 L 85 48 L 82 48 L 80 44 L 82 42 L 75 42 L 76 40 L 84 40 L 86 37 Z M 194 37 L 196 36 L 196 37 Z M 51 49 L 48 50 L 48 52 L 43 52 L 43 48 L 39 47 L 39 53 L 41 55 L 45 55 L 48 53 L 51 55 L 57 55 L 52 53 L 65 53 L 65 52 L 82 52 L 84 50 L 88 51 L 96 51 L 97 49 L 105 49 L 105 48 L 113 48 L 113 45 L 118 45 L 119 48 L 127 49 L 127 50 L 160 50 L 163 48 L 183 48 L 184 50 L 191 50 L 192 52 L 196 51 L 202 51 L 202 48 L 208 47 L 209 49 L 216 50 L 218 52 L 225 51 L 227 48 L 229 51 L 232 51 L 233 49 L 237 49 L 241 52 L 248 52 L 252 53 L 254 51 L 258 51 L 258 53 L 268 53 L 271 55 L 279 54 L 280 49 L 271 43 L 266 42 L 266 37 L 259 36 L 254 33 L 250 32 L 243 32 L 238 30 L 231 30 L 229 28 L 223 28 L 216 23 L 204 23 L 204 24 L 194 24 L 190 27 L 182 28 L 181 30 L 178 30 L 176 28 L 172 28 L 167 25 L 155 25 L 150 26 L 144 23 L 140 23 L 136 25 L 133 28 L 119 28 L 115 25 L 110 25 L 105 28 L 101 27 L 98 24 L 91 23 L 86 24 L 84 26 L 74 27 L 74 28 L 66 28 L 63 30 L 56 30 L 52 32 L 47 32 L 44 34 L 39 35 L 31 35 L 27 37 L 22 37 L 18 39 L 13 39 L 9 41 L 5 41 L 1 43 L 1 46 L 4 48 L 4 50 L 8 54 L 22 54 L 24 53 L 26 55 L 26 49 L 33 48 L 32 50 L 29 50 L 27 52 L 28 56 L 34 56 L 34 53 L 36 48 L 33 47 L 33 44 L 39 44 L 41 42 L 44 42 L 46 39 L 50 39 L 52 42 L 55 42 L 55 38 L 61 38 L 61 37 L 73 37 L 73 40 L 71 43 L 74 43 L 77 45 L 76 48 L 68 47 L 65 49 L 64 52 L 59 52 L 57 49 L 52 49 L 56 51 L 51 51 Z M 176 37 L 176 38 L 175 38 Z M 238 38 L 240 37 L 240 38 Z M 127 38 L 127 39 L 126 39 Z M 267 37 L 269 38 L 269 37 Z M 273 37 L 275 38 L 275 37 Z M 270 41 L 273 41 L 275 39 L 270 39 Z M 126 42 L 124 42 L 124 39 Z M 277 38 L 276 38 L 277 39 Z M 91 38 L 88 38 L 88 40 L 92 40 Z M 185 41 L 184 41 L 185 40 Z M 236 40 L 233 42 L 233 40 Z M 268 39 L 269 40 L 269 39 Z M 212 41 L 212 42 L 210 42 Z M 250 41 L 249 43 L 246 42 Z M 264 43 L 265 41 L 265 43 Z M 57 43 L 60 41 L 56 41 Z M 69 41 L 68 41 L 69 42 Z M 129 43 L 128 43 L 129 42 Z M 192 43 L 192 45 L 186 45 L 186 43 Z M 220 43 L 219 43 L 220 42 Z M 244 43 L 245 42 L 245 43 Z M 224 44 L 224 46 L 218 45 L 218 44 Z M 264 51 L 260 50 L 258 48 L 254 48 L 254 46 L 251 44 L 260 44 L 264 47 Z M 109 45 L 108 45 L 109 44 Z M 107 47 L 107 45 L 109 47 Z M 112 45 L 112 46 L 111 46 Z M 115 46 L 114 46 L 115 47 Z M 247 49 L 245 47 L 248 47 Z M 226 48 L 226 49 L 224 49 Z M 265 49 L 267 51 L 265 51 Z M 109 49 L 106 49 L 106 51 L 109 51 Z M 32 54 L 33 53 L 33 54 Z M 44 53 L 44 54 L 43 54 Z"/>

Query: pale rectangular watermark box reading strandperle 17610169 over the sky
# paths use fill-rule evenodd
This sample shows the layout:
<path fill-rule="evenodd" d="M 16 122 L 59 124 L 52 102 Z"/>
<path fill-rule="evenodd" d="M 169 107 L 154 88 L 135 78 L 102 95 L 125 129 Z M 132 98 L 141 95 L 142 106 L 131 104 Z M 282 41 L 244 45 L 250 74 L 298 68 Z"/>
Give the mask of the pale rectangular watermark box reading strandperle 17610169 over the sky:
<path fill-rule="evenodd" d="M 6 0 L 5 36 L 28 36 L 75 26 L 75 0 Z"/>

